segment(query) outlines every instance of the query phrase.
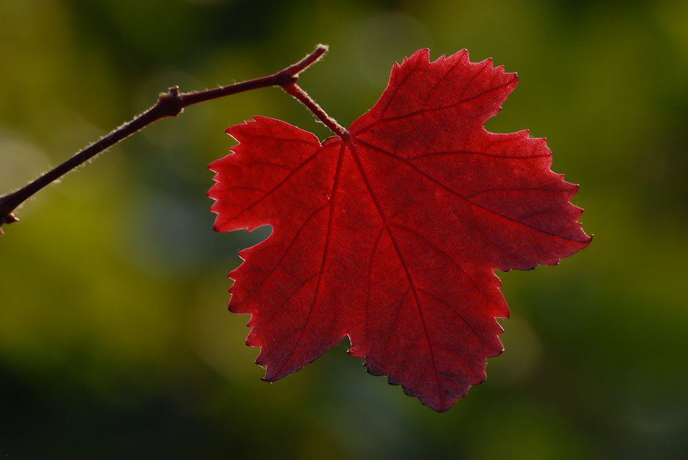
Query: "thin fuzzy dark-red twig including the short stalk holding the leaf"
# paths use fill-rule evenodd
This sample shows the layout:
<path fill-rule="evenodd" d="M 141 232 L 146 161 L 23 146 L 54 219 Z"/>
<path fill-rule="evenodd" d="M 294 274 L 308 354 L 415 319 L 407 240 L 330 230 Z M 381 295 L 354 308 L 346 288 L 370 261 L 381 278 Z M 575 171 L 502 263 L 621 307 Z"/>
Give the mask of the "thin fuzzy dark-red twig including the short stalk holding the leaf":
<path fill-rule="evenodd" d="M 0 234 L 3 234 L 3 224 L 13 223 L 19 220 L 17 217 L 14 217 L 12 212 L 19 208 L 24 201 L 32 197 L 43 187 L 51 184 L 56 179 L 62 177 L 66 173 L 69 173 L 69 171 L 72 171 L 81 164 L 84 164 L 92 157 L 98 155 L 98 153 L 113 146 L 117 142 L 120 142 L 120 140 L 129 137 L 129 135 L 132 135 L 133 133 L 136 133 L 136 131 L 143 129 L 149 124 L 162 118 L 178 116 L 180 113 L 182 113 L 184 107 L 189 107 L 189 105 L 198 104 L 199 102 L 205 102 L 206 100 L 222 98 L 224 96 L 229 96 L 230 94 L 237 94 L 243 91 L 250 91 L 252 89 L 270 86 L 281 86 L 285 88 L 285 91 L 287 91 L 286 87 L 290 87 L 291 85 L 296 86 L 295 83 L 299 79 L 299 73 L 303 72 L 303 70 L 305 70 L 307 67 L 319 61 L 325 52 L 327 52 L 327 45 L 317 45 L 314 52 L 308 54 L 308 56 L 305 56 L 305 58 L 301 59 L 301 61 L 298 63 L 282 69 L 280 72 L 277 72 L 277 74 L 255 78 L 255 80 L 248 80 L 220 88 L 206 89 L 206 91 L 181 94 L 179 92 L 179 87 L 172 87 L 169 88 L 166 93 L 160 93 L 158 102 L 147 111 L 144 111 L 139 116 L 136 116 L 133 118 L 133 120 L 122 124 L 122 126 L 114 129 L 114 131 L 111 131 L 111 133 L 105 137 L 100 138 L 98 142 L 94 142 L 93 144 L 87 146 L 85 149 L 79 151 L 76 153 L 76 155 L 69 158 L 69 160 L 43 174 L 41 177 L 34 180 L 27 186 L 20 188 L 14 193 L 9 193 L 8 195 L 0 197 Z M 310 100 L 312 104 L 317 107 L 317 109 L 319 109 L 322 113 L 325 113 L 315 102 L 312 101 L 312 99 L 310 99 L 310 97 L 308 97 L 308 94 L 305 94 L 305 92 L 303 92 L 303 90 L 300 88 L 299 91 L 301 91 L 301 93 L 305 95 L 305 98 L 308 98 L 308 100 Z M 294 94 L 292 94 L 292 96 L 294 96 Z M 303 102 L 301 98 L 297 96 L 294 97 Z M 306 104 L 306 107 L 311 109 L 308 104 Z M 313 109 L 311 110 L 313 111 Z M 314 113 L 316 112 L 314 111 Z M 316 113 L 316 116 L 320 118 L 318 113 Z M 327 114 L 325 114 L 325 116 L 327 117 Z M 334 122 L 334 120 L 332 120 L 332 122 Z M 334 124 L 336 124 L 336 122 L 334 122 Z M 338 124 L 336 124 L 336 126 L 339 127 Z M 330 127 L 330 124 L 327 124 L 327 127 Z M 330 127 L 330 129 L 332 129 L 332 127 Z"/>

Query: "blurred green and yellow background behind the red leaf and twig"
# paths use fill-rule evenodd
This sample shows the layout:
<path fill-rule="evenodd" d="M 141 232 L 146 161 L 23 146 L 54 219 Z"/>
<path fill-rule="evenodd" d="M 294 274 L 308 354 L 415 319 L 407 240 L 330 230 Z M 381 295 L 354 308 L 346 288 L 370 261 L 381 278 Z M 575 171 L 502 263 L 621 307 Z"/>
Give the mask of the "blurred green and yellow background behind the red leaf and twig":
<path fill-rule="evenodd" d="M 226 310 L 237 251 L 207 165 L 255 115 L 326 129 L 279 89 L 186 109 L 43 190 L 0 238 L 10 459 L 688 458 L 688 2 L 0 0 L 0 193 L 153 105 L 271 74 L 341 124 L 421 47 L 518 72 L 494 132 L 547 137 L 590 247 L 499 273 L 488 379 L 437 414 L 345 343 L 261 382 Z M 346 342 L 346 341 L 345 341 Z"/>

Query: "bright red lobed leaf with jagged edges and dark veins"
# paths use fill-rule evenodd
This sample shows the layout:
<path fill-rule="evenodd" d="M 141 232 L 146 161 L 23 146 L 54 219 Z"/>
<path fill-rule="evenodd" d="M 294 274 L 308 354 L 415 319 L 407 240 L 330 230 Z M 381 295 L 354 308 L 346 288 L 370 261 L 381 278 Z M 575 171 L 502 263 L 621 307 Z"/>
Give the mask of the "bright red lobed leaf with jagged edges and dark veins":
<path fill-rule="evenodd" d="M 420 50 L 350 141 L 262 117 L 227 130 L 239 145 L 210 166 L 215 230 L 273 226 L 230 274 L 264 380 L 347 335 L 369 373 L 438 411 L 485 379 L 503 349 L 495 318 L 509 314 L 494 270 L 590 243 L 545 140 L 483 127 L 516 84 L 466 50 L 433 63 Z"/>

